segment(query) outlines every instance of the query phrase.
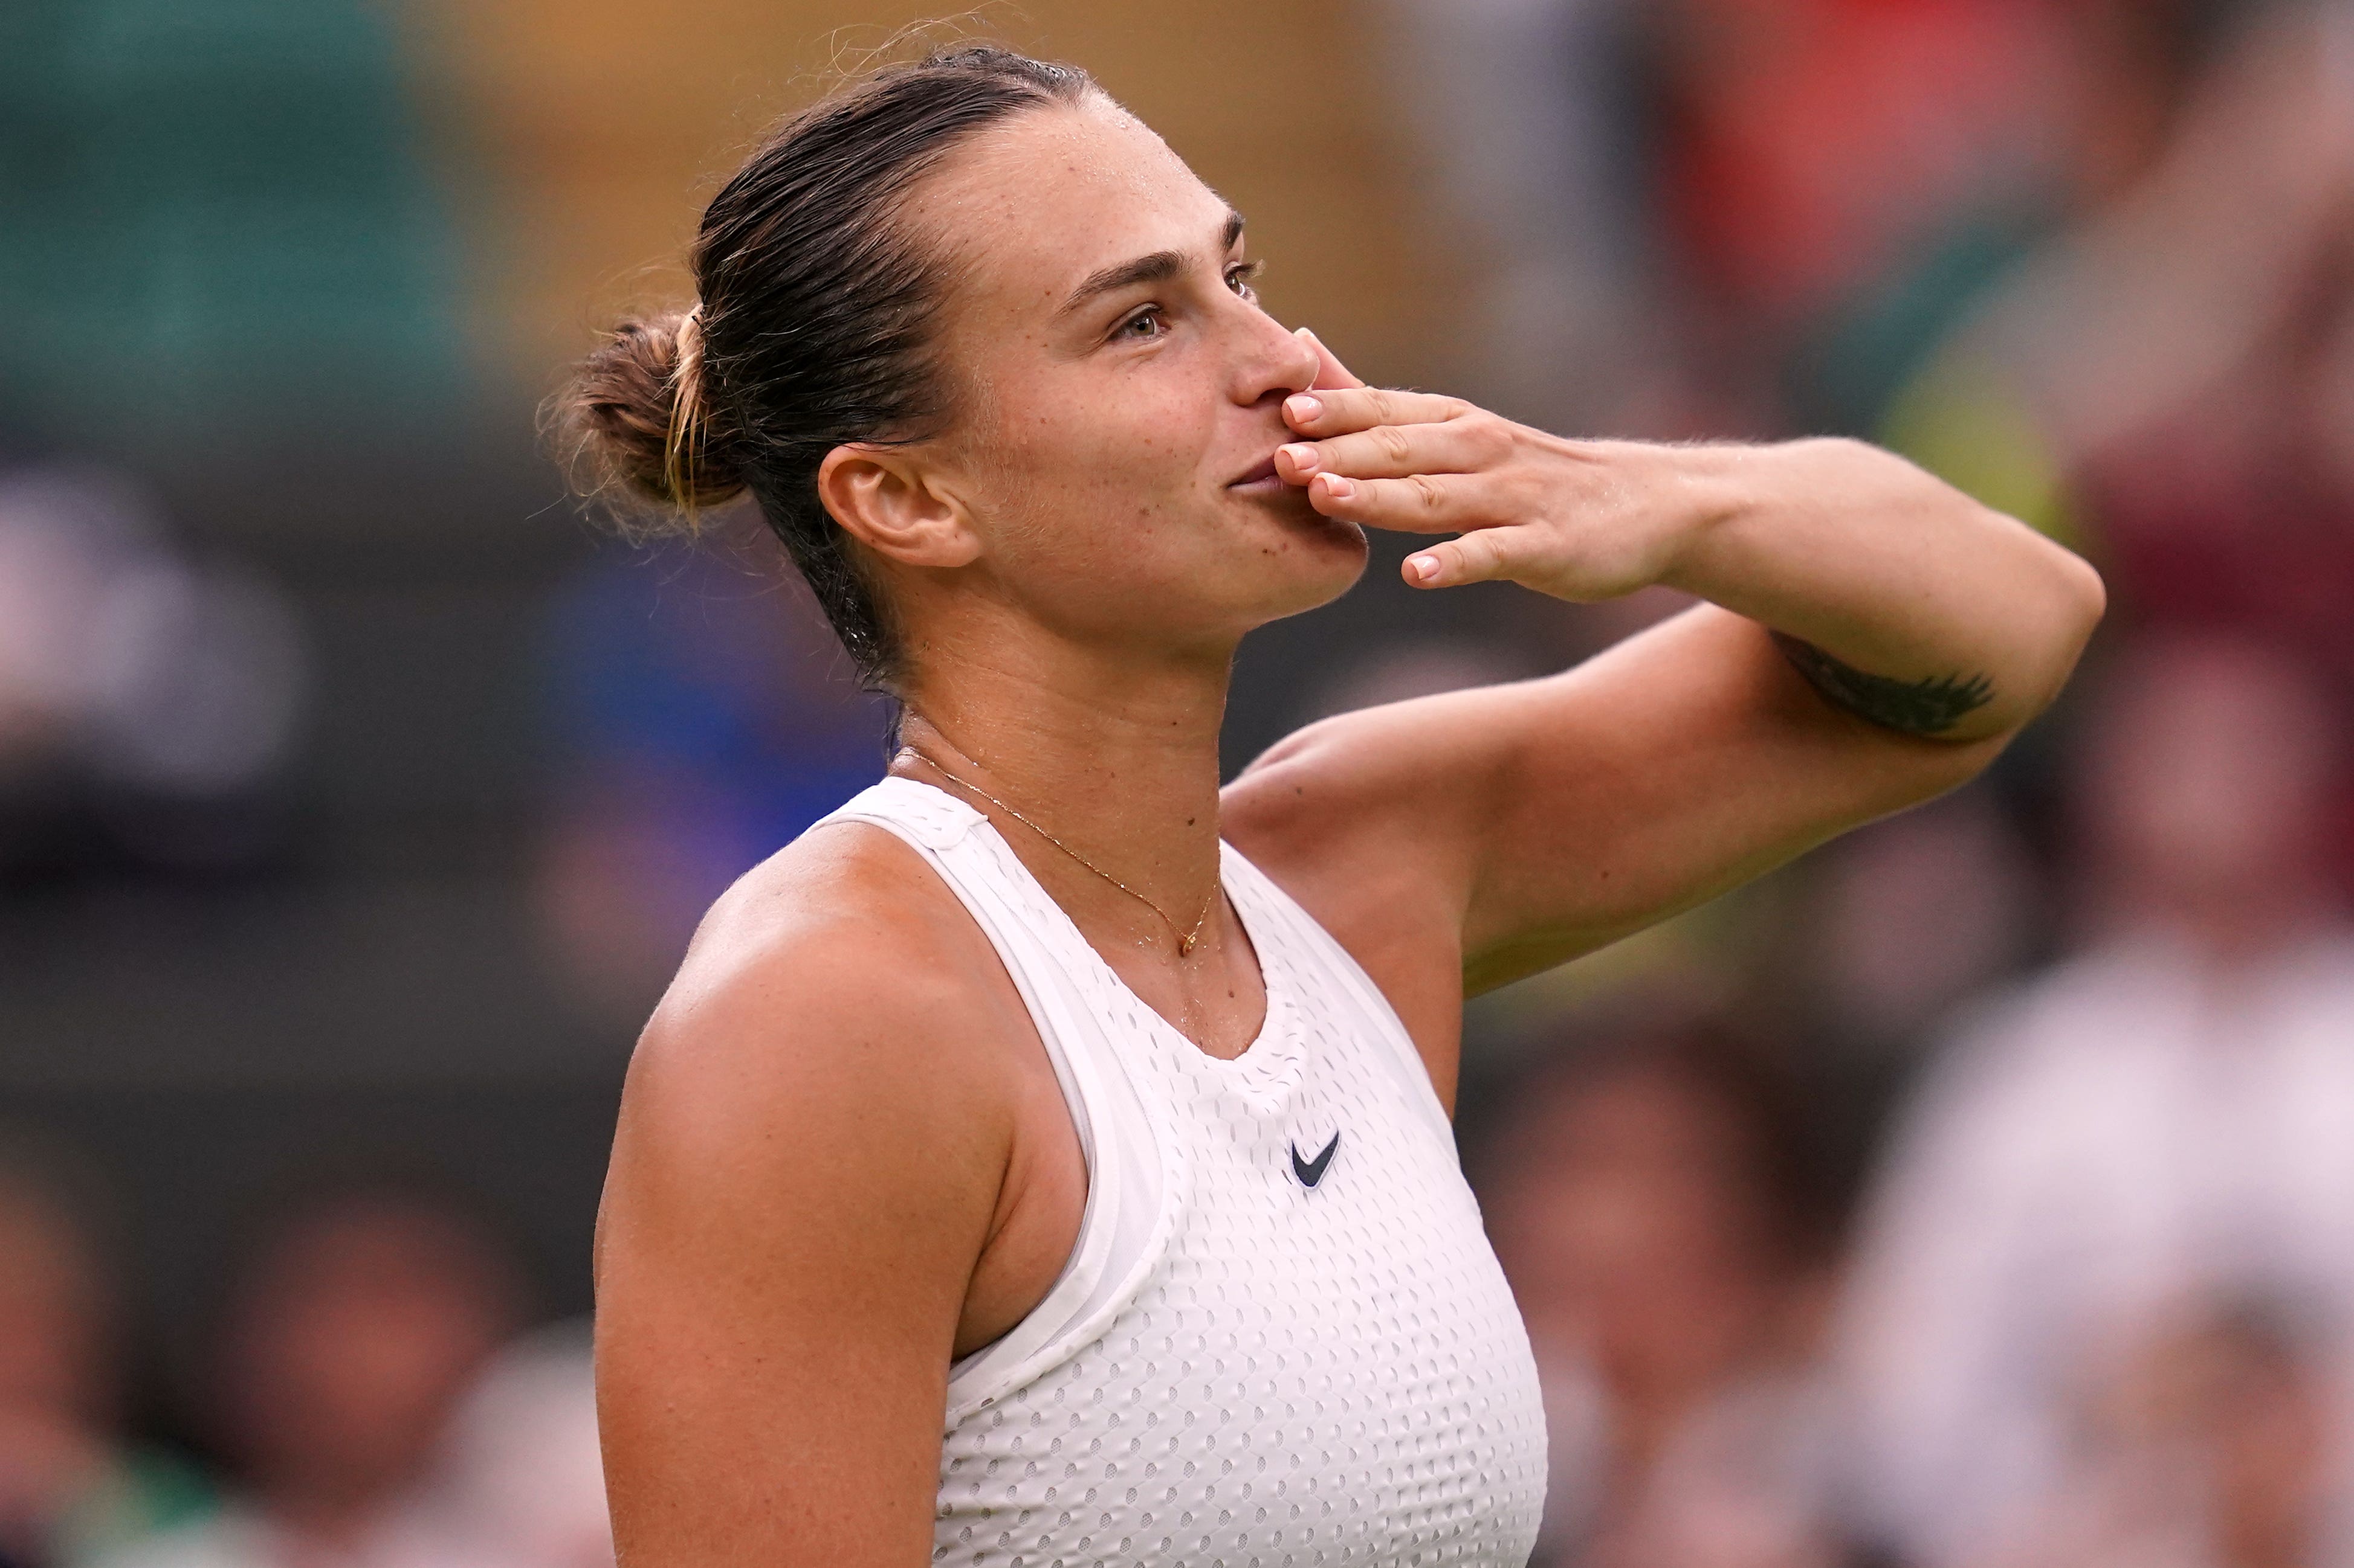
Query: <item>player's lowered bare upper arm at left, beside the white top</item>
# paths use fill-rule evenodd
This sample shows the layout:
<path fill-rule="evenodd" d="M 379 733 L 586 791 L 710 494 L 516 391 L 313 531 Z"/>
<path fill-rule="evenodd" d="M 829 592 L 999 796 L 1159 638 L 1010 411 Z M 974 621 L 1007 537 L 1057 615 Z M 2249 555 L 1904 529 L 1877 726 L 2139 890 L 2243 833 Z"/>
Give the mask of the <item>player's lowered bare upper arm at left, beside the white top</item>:
<path fill-rule="evenodd" d="M 1010 1121 L 942 1038 L 949 982 L 883 972 L 876 949 L 805 935 L 673 991 L 631 1062 L 598 1215 L 598 1415 L 631 1568 L 930 1556 Z"/>

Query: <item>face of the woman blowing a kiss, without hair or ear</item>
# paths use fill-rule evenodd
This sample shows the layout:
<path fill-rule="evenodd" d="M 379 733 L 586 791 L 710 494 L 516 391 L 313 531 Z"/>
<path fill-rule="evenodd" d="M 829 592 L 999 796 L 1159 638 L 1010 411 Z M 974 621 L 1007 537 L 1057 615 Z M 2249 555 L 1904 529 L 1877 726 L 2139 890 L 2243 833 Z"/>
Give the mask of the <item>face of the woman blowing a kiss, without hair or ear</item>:
<path fill-rule="evenodd" d="M 911 221 L 951 264 L 958 426 L 923 459 L 967 513 L 967 572 L 1088 645 L 1222 650 L 1339 596 L 1356 525 L 1274 478 L 1314 351 L 1259 308 L 1241 219 L 1090 97 L 991 127 Z"/>

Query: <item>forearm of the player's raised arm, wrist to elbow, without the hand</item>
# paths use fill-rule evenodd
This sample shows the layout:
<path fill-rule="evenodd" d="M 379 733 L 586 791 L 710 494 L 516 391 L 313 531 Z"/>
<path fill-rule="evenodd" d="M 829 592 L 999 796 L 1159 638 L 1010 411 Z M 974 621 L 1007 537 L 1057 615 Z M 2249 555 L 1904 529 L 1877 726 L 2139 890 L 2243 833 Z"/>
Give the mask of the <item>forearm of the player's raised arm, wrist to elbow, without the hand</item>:
<path fill-rule="evenodd" d="M 1662 582 L 1766 624 L 1831 702 L 1989 739 L 2057 695 L 2100 622 L 2079 556 L 1855 440 L 1678 447 L 1693 516 Z"/>

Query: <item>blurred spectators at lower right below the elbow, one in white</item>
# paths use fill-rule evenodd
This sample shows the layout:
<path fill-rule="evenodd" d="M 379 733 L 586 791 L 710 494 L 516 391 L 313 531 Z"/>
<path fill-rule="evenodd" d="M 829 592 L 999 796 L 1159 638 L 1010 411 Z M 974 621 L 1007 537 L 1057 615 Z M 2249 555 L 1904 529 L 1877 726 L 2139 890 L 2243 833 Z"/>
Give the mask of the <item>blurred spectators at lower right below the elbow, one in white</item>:
<path fill-rule="evenodd" d="M 2354 1561 L 2340 711 L 2220 633 L 2095 690 L 2062 954 L 1923 1034 L 1860 1201 L 1810 1043 L 1688 991 L 1591 1012 L 1476 1149 L 1554 1408 L 1542 1561 Z"/>

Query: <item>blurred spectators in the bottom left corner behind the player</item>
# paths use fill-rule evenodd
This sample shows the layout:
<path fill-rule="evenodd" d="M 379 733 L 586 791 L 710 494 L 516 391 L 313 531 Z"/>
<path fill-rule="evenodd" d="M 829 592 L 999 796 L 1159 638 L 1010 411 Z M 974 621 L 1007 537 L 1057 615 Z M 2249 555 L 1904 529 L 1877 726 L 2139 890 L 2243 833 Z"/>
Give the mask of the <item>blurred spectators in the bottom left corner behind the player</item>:
<path fill-rule="evenodd" d="M 0 1151 L 0 1563 L 610 1568 L 586 1328 L 518 1335 L 464 1194 L 313 1172 L 261 1205 L 177 1314 L 184 1446 L 132 1420 L 104 1210 L 71 1156 Z"/>

